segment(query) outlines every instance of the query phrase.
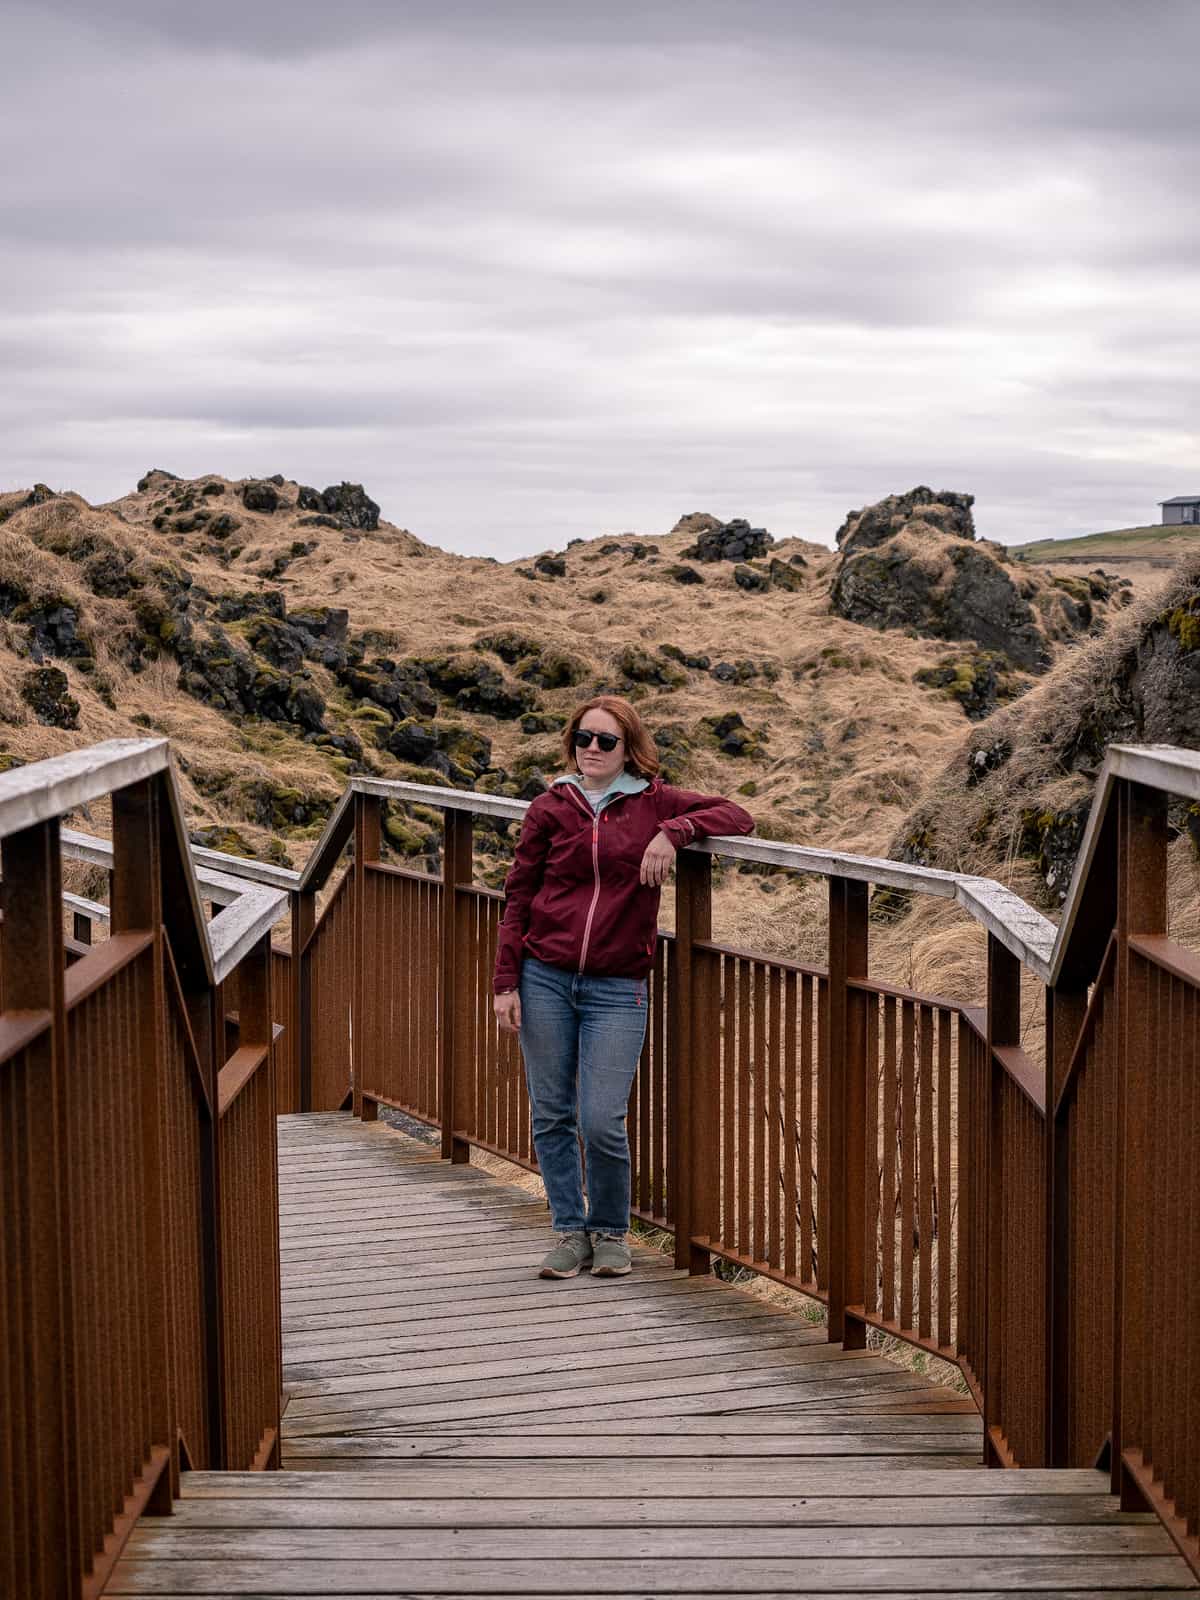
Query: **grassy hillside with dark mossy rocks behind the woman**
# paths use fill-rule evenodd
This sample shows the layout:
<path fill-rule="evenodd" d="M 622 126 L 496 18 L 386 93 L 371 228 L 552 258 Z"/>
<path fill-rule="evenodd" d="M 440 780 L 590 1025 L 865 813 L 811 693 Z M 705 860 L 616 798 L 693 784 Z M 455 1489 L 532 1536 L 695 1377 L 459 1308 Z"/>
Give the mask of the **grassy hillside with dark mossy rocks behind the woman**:
<path fill-rule="evenodd" d="M 843 555 L 822 546 L 688 554 L 712 522 L 501 563 L 422 542 L 349 485 L 149 472 L 109 506 L 0 493 L 0 770 L 160 733 L 194 838 L 301 864 L 355 771 L 530 798 L 571 707 L 610 690 L 637 702 L 670 781 L 738 795 L 763 837 L 886 853 L 973 726 L 963 685 L 995 661 L 918 618 L 834 614 Z M 922 605 L 936 611 L 960 549 L 984 555 L 936 530 L 915 550 Z M 1107 626 L 1109 600 L 1078 578 L 1014 579 L 1051 661 L 1078 637 L 1064 606 L 1077 629 Z M 1006 696 L 1034 682 L 1003 677 Z M 102 830 L 102 808 L 82 822 Z M 430 859 L 435 813 L 390 824 L 397 858 Z M 510 838 L 480 826 L 477 845 L 480 878 L 502 882 Z M 872 966 L 938 989 L 965 955 L 962 918 L 918 922 L 878 930 Z M 726 870 L 715 923 L 819 958 L 824 885 Z"/>

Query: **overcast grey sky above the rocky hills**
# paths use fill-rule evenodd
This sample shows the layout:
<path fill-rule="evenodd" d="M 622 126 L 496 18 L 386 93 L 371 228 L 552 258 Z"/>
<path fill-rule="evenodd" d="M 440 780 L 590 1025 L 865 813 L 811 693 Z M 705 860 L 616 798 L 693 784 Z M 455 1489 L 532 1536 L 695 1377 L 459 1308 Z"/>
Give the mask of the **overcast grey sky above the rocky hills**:
<path fill-rule="evenodd" d="M 1200 493 L 1195 0 L 0 0 L 0 486 L 504 558 Z"/>

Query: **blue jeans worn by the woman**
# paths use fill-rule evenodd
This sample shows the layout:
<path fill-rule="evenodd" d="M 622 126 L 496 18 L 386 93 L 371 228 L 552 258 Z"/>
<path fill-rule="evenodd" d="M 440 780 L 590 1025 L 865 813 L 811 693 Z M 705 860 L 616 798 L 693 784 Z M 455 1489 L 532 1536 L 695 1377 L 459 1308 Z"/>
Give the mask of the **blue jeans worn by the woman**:
<path fill-rule="evenodd" d="M 533 1144 L 554 1227 L 560 1234 L 624 1234 L 629 1227 L 626 1110 L 646 1035 L 646 981 L 589 978 L 526 955 L 520 997 Z"/>

